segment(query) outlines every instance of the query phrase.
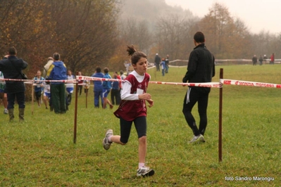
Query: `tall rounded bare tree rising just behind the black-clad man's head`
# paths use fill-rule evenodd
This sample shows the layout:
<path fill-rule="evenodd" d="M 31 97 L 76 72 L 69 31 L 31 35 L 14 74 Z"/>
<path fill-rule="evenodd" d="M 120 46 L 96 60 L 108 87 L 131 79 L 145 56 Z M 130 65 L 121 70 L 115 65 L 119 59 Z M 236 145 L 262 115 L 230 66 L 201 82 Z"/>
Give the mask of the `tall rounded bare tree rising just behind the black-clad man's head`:
<path fill-rule="evenodd" d="M 198 25 L 205 34 L 208 49 L 216 58 L 249 56 L 249 49 L 247 49 L 251 43 L 249 31 L 242 20 L 239 18 L 235 20 L 230 16 L 227 7 L 218 3 L 213 4 L 209 13 Z"/>

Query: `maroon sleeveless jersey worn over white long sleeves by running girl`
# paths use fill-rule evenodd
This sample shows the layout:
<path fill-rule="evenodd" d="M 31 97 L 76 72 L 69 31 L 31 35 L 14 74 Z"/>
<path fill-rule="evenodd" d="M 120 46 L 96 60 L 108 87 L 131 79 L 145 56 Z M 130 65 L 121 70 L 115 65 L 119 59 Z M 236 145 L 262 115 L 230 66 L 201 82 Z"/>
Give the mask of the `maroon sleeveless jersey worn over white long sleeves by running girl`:
<path fill-rule="evenodd" d="M 149 78 L 149 74 L 144 73 L 144 80 L 138 82 L 134 75 L 128 75 L 125 80 L 132 84 L 130 93 L 137 93 L 137 89 L 142 89 L 144 91 L 143 93 L 146 93 Z M 116 117 L 122 117 L 126 121 L 133 121 L 136 117 L 146 116 L 146 103 L 143 99 L 134 101 L 122 100 L 114 115 Z"/>

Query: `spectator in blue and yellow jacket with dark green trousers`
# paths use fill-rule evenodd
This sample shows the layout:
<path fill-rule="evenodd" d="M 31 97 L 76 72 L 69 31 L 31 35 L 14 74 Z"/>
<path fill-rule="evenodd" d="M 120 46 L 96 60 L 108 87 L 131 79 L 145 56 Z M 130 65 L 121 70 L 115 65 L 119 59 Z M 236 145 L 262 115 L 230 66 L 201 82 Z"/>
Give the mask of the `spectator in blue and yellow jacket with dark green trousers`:
<path fill-rule="evenodd" d="M 48 79 L 51 80 L 65 80 L 66 66 L 61 61 L 61 55 L 54 53 L 54 63 L 51 64 L 47 72 Z M 51 105 L 56 114 L 63 114 L 66 112 L 65 105 L 65 84 L 63 82 L 51 82 Z"/>

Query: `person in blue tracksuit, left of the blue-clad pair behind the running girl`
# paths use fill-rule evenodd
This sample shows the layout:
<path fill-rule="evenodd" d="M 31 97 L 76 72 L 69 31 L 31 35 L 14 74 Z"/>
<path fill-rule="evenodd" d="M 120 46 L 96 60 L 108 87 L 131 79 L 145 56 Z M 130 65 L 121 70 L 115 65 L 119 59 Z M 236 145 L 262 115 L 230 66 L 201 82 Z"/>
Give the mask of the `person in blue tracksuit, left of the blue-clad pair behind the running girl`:
<path fill-rule="evenodd" d="M 101 72 L 101 67 L 96 67 L 96 72 L 92 75 L 96 78 L 104 78 L 104 74 Z M 99 98 L 101 98 L 101 106 L 104 106 L 104 99 L 102 97 L 102 81 L 94 81 L 94 108 L 99 108 Z"/>

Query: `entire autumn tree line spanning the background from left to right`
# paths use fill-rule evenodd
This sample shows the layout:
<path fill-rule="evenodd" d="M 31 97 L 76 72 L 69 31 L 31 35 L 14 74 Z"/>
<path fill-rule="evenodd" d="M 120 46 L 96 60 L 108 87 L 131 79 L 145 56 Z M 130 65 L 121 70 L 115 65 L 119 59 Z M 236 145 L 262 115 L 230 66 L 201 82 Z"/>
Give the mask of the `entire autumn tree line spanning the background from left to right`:
<path fill-rule="evenodd" d="M 145 11 L 139 7 L 146 6 L 142 1 L 132 1 L 137 2 L 135 8 Z M 149 2 L 154 7 L 154 1 Z M 133 15 L 120 18 L 127 11 L 123 3 L 120 0 L 1 1 L 1 54 L 4 56 L 9 46 L 15 46 L 18 57 L 29 63 L 26 70 L 29 77 L 42 70 L 54 52 L 61 53 L 68 69 L 92 75 L 96 66 L 123 70 L 123 63 L 128 60 L 126 45 L 130 44 L 144 51 L 152 63 L 155 53 L 169 54 L 171 60 L 187 60 L 194 48 L 193 35 L 200 30 L 216 58 L 249 59 L 254 54 L 271 53 L 280 58 L 281 33 L 263 30 L 252 34 L 242 20 L 233 18 L 221 4 L 213 4 L 204 18 L 192 13 L 170 13 L 169 6 L 165 6 L 166 13 L 155 15 L 156 22 L 150 22 Z"/>

